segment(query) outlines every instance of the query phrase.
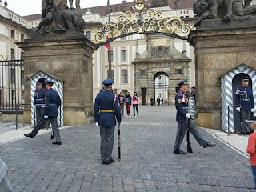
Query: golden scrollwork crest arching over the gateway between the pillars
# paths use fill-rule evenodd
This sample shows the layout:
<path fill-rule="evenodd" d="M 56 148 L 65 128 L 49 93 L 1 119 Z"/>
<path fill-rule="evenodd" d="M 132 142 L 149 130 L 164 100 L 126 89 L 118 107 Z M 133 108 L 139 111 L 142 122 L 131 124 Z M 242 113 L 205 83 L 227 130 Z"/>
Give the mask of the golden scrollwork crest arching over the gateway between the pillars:
<path fill-rule="evenodd" d="M 118 17 L 116 22 L 102 26 L 94 32 L 94 43 L 104 45 L 117 38 L 130 34 L 166 34 L 182 40 L 187 39 L 193 26 L 183 22 L 180 18 L 168 18 L 166 14 L 153 9 L 146 10 L 144 0 L 134 0 L 135 8 L 140 13 L 127 11 Z"/>

